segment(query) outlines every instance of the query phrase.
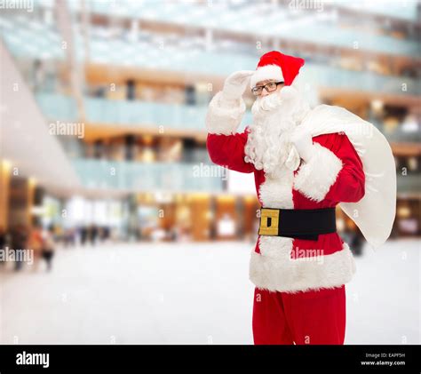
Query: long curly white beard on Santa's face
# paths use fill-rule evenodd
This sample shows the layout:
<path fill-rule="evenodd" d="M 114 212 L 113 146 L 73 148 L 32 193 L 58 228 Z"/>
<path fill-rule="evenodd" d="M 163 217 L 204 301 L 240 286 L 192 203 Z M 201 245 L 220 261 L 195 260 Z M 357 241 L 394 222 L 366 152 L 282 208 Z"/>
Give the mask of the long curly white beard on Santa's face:
<path fill-rule="evenodd" d="M 293 86 L 256 99 L 244 160 L 273 175 L 290 155 L 290 136 L 309 111 L 309 104 Z"/>

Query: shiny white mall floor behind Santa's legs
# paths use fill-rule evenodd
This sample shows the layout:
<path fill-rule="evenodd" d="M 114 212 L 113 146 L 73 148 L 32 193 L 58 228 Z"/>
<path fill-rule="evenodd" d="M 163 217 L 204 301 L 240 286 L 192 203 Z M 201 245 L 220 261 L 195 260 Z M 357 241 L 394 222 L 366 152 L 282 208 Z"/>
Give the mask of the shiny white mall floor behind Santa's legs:
<path fill-rule="evenodd" d="M 0 343 L 251 344 L 252 247 L 108 244 L 57 251 L 50 274 L 3 271 Z M 419 242 L 366 250 L 347 286 L 346 344 L 419 344 Z"/>

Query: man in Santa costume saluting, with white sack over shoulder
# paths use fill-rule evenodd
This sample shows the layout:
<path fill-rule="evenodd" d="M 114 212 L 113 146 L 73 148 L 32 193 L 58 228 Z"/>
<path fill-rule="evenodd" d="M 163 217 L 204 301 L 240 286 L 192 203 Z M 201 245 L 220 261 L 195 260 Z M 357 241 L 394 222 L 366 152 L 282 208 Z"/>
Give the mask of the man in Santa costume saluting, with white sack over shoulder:
<path fill-rule="evenodd" d="M 343 344 L 345 284 L 355 265 L 337 233 L 335 208 L 340 204 L 373 246 L 385 242 L 393 224 L 387 141 L 344 108 L 311 108 L 297 84 L 304 63 L 264 54 L 256 71 L 226 78 L 206 115 L 212 162 L 254 173 L 261 204 L 250 259 L 255 344 Z M 237 132 L 249 84 L 257 97 L 253 122 Z"/>

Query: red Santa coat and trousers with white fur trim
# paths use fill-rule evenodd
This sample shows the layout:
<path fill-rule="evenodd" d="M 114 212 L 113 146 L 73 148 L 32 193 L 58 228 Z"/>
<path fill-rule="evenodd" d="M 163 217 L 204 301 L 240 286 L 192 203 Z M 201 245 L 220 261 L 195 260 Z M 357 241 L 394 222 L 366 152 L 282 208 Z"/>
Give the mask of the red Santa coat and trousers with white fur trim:
<path fill-rule="evenodd" d="M 298 171 L 285 168 L 285 175 L 269 183 L 264 171 L 244 162 L 246 140 L 246 131 L 234 135 L 209 134 L 207 145 L 214 163 L 234 171 L 254 172 L 263 207 L 328 208 L 339 202 L 359 201 L 364 195 L 361 160 L 345 134 L 315 137 L 319 153 L 313 163 L 302 164 Z M 321 169 L 319 165 L 329 167 Z M 322 171 L 325 175 L 321 175 Z M 322 192 L 325 190 L 326 193 Z M 314 250 L 322 255 L 308 261 Z M 300 258 L 304 260 L 300 262 Z M 353 256 L 336 233 L 319 235 L 317 241 L 259 236 L 250 261 L 250 280 L 256 285 L 255 342 L 291 344 L 294 339 L 303 344 L 342 344 L 346 322 L 342 285 L 351 280 L 353 272 Z M 332 287 L 339 288 L 314 291 Z M 290 294 L 292 291 L 301 292 Z"/>

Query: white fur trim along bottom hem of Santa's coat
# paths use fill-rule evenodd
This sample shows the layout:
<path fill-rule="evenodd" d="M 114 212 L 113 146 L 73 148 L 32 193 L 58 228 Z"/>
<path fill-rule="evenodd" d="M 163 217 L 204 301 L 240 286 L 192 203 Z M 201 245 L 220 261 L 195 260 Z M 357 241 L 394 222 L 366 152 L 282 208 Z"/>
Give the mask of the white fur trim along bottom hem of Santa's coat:
<path fill-rule="evenodd" d="M 318 258 L 276 259 L 251 252 L 250 281 L 262 290 L 332 289 L 350 282 L 354 273 L 355 260 L 346 243 L 341 251 Z"/>

